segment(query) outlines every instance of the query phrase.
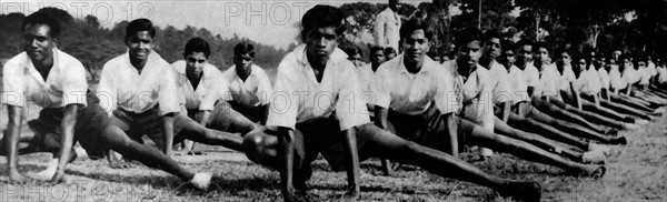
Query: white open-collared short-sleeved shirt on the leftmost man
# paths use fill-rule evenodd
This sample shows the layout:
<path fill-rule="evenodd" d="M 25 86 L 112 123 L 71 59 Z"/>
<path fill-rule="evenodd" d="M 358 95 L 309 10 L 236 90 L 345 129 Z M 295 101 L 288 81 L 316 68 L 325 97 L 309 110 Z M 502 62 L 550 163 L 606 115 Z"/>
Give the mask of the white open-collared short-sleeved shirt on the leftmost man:
<path fill-rule="evenodd" d="M 2 104 L 26 107 L 27 101 L 42 108 L 87 104 L 83 64 L 58 49 L 52 51 L 53 67 L 46 81 L 28 53 L 21 52 L 7 61 L 2 68 Z"/>

